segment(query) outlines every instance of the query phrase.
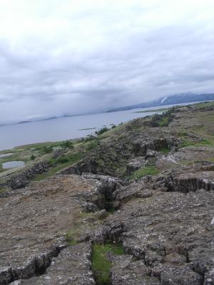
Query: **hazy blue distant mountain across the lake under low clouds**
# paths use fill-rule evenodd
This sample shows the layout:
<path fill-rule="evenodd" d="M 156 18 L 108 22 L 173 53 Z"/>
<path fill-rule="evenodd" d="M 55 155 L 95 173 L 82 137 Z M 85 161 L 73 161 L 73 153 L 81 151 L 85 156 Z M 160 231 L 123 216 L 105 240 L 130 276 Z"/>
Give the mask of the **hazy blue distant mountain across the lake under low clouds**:
<path fill-rule="evenodd" d="M 153 100 L 146 103 L 139 103 L 136 105 L 113 108 L 111 110 L 108 110 L 107 112 L 117 112 L 122 110 L 131 110 L 138 108 L 156 107 L 161 105 L 173 105 L 173 104 L 191 103 L 191 102 L 200 102 L 200 101 L 209 101 L 209 100 L 214 100 L 214 93 L 212 94 L 183 93 L 178 95 L 165 96 L 157 100 Z"/>

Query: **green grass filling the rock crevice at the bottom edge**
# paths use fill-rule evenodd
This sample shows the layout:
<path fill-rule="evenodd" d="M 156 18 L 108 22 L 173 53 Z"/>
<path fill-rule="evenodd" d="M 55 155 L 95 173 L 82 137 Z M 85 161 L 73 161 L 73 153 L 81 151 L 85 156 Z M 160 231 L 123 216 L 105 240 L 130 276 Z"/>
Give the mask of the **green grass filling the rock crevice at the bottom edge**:
<path fill-rule="evenodd" d="M 106 259 L 106 253 L 124 254 L 121 244 L 93 244 L 91 269 L 97 285 L 111 285 L 111 261 Z"/>

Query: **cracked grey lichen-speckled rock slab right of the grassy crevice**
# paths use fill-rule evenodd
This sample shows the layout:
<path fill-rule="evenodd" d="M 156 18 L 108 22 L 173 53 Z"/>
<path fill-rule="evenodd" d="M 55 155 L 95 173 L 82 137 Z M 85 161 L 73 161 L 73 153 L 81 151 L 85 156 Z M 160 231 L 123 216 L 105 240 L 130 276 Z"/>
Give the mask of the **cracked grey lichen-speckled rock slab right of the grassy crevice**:
<path fill-rule="evenodd" d="M 128 254 L 112 257 L 113 285 L 214 284 L 214 171 L 187 168 L 115 193 L 118 211 L 91 234 L 92 242 L 121 241 Z"/>

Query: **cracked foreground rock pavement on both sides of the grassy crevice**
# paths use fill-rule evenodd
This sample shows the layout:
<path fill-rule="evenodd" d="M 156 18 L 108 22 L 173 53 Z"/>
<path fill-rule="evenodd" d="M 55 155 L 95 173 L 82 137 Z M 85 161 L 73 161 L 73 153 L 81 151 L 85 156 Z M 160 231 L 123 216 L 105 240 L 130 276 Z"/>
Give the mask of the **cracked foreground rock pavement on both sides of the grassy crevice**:
<path fill-rule="evenodd" d="M 112 285 L 213 285 L 213 181 L 212 165 L 195 165 L 129 185 L 87 173 L 9 191 L 0 199 L 0 284 L 96 284 L 91 243 L 110 241 L 126 252 L 108 256 Z M 116 212 L 106 217 L 109 200 Z M 68 246 L 63 237 L 88 209 L 93 217 Z"/>

